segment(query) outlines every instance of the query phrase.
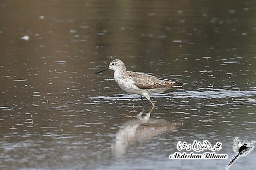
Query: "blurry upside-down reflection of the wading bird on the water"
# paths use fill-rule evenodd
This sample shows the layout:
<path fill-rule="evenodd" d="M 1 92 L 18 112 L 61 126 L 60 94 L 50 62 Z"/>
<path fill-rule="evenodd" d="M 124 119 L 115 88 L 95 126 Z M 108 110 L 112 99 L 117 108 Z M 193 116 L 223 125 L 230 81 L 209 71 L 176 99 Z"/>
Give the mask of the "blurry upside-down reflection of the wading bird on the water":
<path fill-rule="evenodd" d="M 168 132 L 183 125 L 183 123 L 150 118 L 151 112 L 152 110 L 146 116 L 142 116 L 143 112 L 140 112 L 136 118 L 126 121 L 119 128 L 115 136 L 115 141 L 111 145 L 112 155 L 120 158 L 125 154 L 128 145 L 136 141 L 152 138 L 161 132 Z"/>

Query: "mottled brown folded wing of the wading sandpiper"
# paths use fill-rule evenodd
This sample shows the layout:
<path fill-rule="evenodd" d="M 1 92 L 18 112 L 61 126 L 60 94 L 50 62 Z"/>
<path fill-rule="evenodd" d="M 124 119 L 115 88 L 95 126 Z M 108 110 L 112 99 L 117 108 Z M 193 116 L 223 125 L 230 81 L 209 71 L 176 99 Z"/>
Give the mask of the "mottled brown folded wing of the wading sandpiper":
<path fill-rule="evenodd" d="M 135 85 L 141 89 L 165 88 L 172 86 L 182 87 L 182 83 L 161 79 L 152 75 L 132 71 L 127 71 L 127 73 L 128 76 L 133 79 Z"/>

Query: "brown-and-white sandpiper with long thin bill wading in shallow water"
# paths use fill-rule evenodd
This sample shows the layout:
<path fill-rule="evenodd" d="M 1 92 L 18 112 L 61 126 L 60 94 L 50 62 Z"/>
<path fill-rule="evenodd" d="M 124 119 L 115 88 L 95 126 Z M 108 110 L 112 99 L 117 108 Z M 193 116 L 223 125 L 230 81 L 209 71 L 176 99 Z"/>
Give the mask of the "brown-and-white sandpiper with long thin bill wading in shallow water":
<path fill-rule="evenodd" d="M 152 109 L 155 107 L 151 101 L 149 94 L 163 92 L 171 87 L 182 87 L 182 83 L 178 83 L 168 79 L 161 79 L 145 73 L 126 71 L 124 62 L 120 59 L 114 59 L 109 63 L 109 67 L 101 70 L 97 73 L 101 73 L 106 70 L 114 71 L 115 82 L 125 92 L 130 94 L 138 94 L 141 96 L 142 105 L 144 108 L 144 102 L 142 96 L 150 101 Z"/>

